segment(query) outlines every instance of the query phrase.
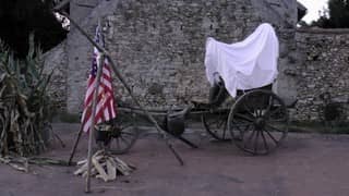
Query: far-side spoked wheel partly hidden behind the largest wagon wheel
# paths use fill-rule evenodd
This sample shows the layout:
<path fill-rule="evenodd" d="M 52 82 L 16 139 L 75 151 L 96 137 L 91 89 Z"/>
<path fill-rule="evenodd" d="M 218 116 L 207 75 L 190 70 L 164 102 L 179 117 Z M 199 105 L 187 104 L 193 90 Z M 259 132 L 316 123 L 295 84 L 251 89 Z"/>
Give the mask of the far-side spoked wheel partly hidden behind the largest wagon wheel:
<path fill-rule="evenodd" d="M 202 115 L 206 132 L 217 140 L 231 140 L 227 120 L 229 110 L 217 109 Z"/>

